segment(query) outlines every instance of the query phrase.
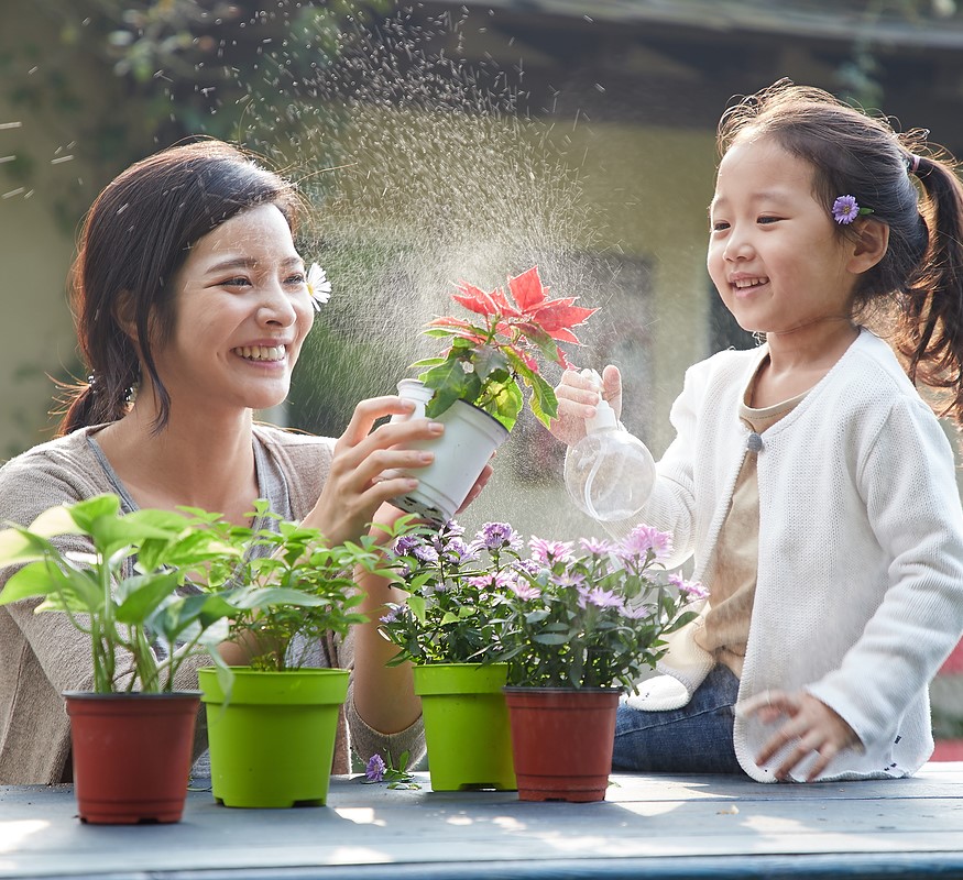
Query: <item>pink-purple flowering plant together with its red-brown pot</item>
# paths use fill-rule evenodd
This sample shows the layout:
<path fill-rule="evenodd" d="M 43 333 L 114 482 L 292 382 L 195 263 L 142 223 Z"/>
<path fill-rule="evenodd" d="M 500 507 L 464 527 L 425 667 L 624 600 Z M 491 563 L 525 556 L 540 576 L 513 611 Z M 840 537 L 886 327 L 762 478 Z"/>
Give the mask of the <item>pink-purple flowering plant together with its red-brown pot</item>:
<path fill-rule="evenodd" d="M 624 540 L 533 538 L 502 572 L 506 601 L 493 622 L 508 663 L 505 698 L 524 801 L 605 798 L 623 689 L 666 650 L 663 636 L 694 616 L 698 584 L 659 560 L 669 536 L 637 526 Z"/>

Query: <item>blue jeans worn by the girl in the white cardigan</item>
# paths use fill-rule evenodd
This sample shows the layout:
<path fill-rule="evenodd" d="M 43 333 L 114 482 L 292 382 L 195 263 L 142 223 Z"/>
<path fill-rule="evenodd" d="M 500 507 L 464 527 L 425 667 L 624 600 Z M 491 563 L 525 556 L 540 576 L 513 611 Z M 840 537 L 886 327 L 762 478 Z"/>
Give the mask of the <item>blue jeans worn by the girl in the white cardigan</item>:
<path fill-rule="evenodd" d="M 646 712 L 620 704 L 612 769 L 655 773 L 743 773 L 732 745 L 738 679 L 716 666 L 689 704 Z"/>

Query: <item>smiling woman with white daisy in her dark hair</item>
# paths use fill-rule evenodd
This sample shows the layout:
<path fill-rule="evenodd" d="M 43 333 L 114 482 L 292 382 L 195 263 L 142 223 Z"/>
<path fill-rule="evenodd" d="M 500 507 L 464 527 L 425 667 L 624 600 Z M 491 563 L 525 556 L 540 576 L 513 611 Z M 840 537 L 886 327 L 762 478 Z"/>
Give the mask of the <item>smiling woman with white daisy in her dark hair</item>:
<path fill-rule="evenodd" d="M 299 208 L 292 184 L 217 141 L 161 152 L 103 190 L 73 275 L 91 377 L 63 436 L 0 470 L 0 521 L 28 525 L 102 492 L 127 510 L 188 505 L 239 524 L 264 497 L 332 542 L 400 515 L 387 501 L 417 481 L 385 471 L 424 466 L 430 454 L 411 446 L 442 428 L 411 419 L 371 429 L 411 415 L 409 403 L 360 403 L 337 442 L 253 421 L 254 409 L 286 397 L 318 305 L 292 237 Z M 398 601 L 381 580 L 362 586 L 361 608 L 375 622 Z M 92 678 L 84 639 L 61 615 L 34 614 L 35 604 L 0 609 L 2 783 L 70 780 L 61 693 L 89 689 Z M 423 751 L 411 672 L 385 667 L 393 649 L 374 624 L 318 653 L 320 664 L 353 669 L 347 718 L 362 758 Z M 182 686 L 196 688 L 196 669 L 183 673 Z M 349 770 L 343 729 L 335 770 Z"/>

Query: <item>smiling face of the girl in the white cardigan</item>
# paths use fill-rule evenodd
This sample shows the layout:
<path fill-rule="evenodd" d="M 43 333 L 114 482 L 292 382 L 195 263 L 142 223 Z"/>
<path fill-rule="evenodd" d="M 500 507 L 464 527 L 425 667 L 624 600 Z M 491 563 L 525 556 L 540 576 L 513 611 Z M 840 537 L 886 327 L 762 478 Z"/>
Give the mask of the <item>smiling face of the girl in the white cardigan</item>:
<path fill-rule="evenodd" d="M 719 165 L 707 263 L 744 330 L 785 333 L 851 314 L 853 249 L 812 177 L 772 138 L 736 142 Z"/>

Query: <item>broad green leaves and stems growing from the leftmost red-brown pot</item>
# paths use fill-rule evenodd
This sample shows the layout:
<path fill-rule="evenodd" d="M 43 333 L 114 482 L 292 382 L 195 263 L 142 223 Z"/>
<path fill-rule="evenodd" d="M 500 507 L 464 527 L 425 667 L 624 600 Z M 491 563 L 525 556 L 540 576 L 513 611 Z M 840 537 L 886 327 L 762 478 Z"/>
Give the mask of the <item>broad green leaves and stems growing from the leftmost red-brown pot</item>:
<path fill-rule="evenodd" d="M 177 592 L 208 565 L 240 559 L 208 522 L 169 510 L 121 515 L 120 498 L 105 494 L 52 507 L 29 527 L 8 525 L 0 566 L 21 568 L 0 604 L 40 598 L 37 613 L 66 614 L 89 637 L 96 693 L 172 691 L 182 663 L 227 636 L 233 607 L 223 596 Z"/>

